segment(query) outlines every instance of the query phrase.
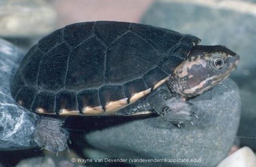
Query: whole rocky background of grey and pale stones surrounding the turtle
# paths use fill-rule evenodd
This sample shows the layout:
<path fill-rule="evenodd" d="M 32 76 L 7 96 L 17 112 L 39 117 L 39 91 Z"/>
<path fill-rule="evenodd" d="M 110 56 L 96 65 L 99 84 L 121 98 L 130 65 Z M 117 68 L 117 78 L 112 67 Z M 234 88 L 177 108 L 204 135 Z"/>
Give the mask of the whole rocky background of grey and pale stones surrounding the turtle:
<path fill-rule="evenodd" d="M 22 56 L 38 39 L 64 25 L 92 20 L 140 22 L 193 34 L 202 39 L 202 45 L 226 45 L 241 56 L 241 62 L 230 76 L 232 80 L 192 99 L 201 108 L 194 126 L 184 124 L 178 129 L 159 117 L 71 117 L 65 122 L 72 134 L 71 151 L 56 157 L 36 148 L 31 141 L 37 117 L 15 105 L 8 84 Z M 0 36 L 11 42 L 0 40 L 0 163 L 169 166 L 170 163 L 84 164 L 78 160 L 189 158 L 195 162 L 172 165 L 256 166 L 255 20 L 255 0 L 0 1 Z M 227 157 L 230 151 L 236 152 Z M 222 159 L 225 160 L 220 163 Z"/>

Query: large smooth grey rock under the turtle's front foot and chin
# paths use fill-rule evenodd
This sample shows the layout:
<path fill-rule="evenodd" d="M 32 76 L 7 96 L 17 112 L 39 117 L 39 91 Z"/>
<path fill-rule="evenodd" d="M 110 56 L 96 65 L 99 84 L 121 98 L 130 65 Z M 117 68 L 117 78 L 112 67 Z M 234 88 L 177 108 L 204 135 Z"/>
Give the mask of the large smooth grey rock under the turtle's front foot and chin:
<path fill-rule="evenodd" d="M 195 163 L 175 164 L 216 166 L 236 138 L 241 110 L 239 89 L 227 79 L 189 101 L 199 108 L 196 114 L 200 119 L 194 121 L 194 126 L 185 123 L 178 128 L 161 117 L 152 117 L 93 131 L 85 138 L 116 158 L 192 159 Z"/>

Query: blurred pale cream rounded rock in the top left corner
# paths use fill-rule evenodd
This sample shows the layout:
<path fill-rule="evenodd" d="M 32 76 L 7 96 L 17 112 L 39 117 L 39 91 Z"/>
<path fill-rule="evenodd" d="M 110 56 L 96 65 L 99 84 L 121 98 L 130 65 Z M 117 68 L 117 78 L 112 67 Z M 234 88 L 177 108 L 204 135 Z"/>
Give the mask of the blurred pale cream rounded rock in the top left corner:
<path fill-rule="evenodd" d="M 1 0 L 0 36 L 42 36 L 56 27 L 56 12 L 45 0 Z"/>

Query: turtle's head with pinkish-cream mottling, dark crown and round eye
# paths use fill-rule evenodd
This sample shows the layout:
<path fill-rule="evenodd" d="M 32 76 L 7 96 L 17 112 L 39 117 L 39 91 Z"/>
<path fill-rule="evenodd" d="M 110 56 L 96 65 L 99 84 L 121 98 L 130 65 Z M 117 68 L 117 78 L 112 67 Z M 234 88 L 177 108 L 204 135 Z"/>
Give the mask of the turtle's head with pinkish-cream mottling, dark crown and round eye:
<path fill-rule="evenodd" d="M 168 80 L 173 92 L 183 98 L 202 94 L 236 69 L 239 55 L 221 45 L 196 45 Z"/>

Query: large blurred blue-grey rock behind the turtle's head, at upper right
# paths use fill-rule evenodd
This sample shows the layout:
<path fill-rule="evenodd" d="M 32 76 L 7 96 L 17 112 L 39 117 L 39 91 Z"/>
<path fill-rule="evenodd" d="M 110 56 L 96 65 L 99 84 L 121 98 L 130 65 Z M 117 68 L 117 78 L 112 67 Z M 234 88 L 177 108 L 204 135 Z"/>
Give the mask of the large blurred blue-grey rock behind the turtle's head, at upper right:
<path fill-rule="evenodd" d="M 144 14 L 141 23 L 193 34 L 202 39 L 202 45 L 226 45 L 241 55 L 236 75 L 248 75 L 256 64 L 255 16 L 211 7 L 158 1 Z"/>

